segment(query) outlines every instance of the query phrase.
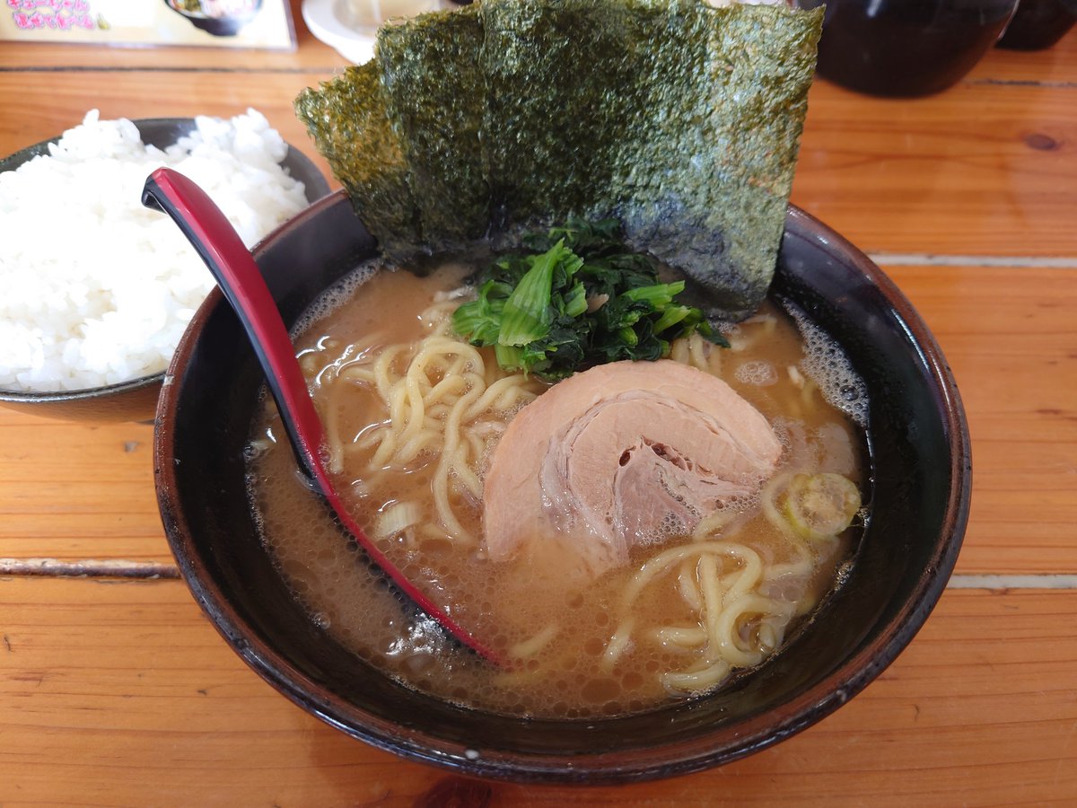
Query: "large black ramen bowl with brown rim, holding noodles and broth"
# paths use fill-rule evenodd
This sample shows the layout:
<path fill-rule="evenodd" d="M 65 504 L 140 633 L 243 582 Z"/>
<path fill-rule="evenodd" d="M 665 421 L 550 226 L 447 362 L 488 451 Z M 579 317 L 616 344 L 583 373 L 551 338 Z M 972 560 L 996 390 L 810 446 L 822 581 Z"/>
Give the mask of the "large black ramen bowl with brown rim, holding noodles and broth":
<path fill-rule="evenodd" d="M 255 254 L 291 322 L 374 250 L 337 194 Z M 180 569 L 236 653 L 297 705 L 376 747 L 463 774 L 626 782 L 727 763 L 787 738 L 858 693 L 927 618 L 961 545 L 970 471 L 950 371 L 867 257 L 791 209 L 774 291 L 838 338 L 867 382 L 872 517 L 845 585 L 781 654 L 728 689 L 627 718 L 527 721 L 406 689 L 338 646 L 289 595 L 248 511 L 243 445 L 262 377 L 219 293 L 186 332 L 157 410 L 157 497 Z"/>

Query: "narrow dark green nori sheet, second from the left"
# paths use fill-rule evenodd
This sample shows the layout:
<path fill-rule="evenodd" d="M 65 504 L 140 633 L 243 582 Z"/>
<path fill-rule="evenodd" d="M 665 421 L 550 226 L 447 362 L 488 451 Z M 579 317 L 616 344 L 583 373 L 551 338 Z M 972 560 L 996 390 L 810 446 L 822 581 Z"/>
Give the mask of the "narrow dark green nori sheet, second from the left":
<path fill-rule="evenodd" d="M 428 249 L 484 235 L 490 223 L 479 129 L 486 80 L 478 8 L 424 14 L 378 31 L 389 117 L 411 168 Z"/>

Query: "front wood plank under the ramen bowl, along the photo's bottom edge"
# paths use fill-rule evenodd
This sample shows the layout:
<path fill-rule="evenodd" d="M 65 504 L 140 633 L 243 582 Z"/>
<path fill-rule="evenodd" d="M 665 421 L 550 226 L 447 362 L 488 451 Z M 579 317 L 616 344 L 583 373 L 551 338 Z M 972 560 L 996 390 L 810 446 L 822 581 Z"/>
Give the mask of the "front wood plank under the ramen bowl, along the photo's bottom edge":
<path fill-rule="evenodd" d="M 766 752 L 667 782 L 471 793 L 492 806 L 1064 800 L 1077 790 L 1075 612 L 1072 590 L 950 591 L 863 694 Z M 0 580 L 0 614 L 5 802 L 432 805 L 459 784 L 276 694 L 179 582 Z"/>

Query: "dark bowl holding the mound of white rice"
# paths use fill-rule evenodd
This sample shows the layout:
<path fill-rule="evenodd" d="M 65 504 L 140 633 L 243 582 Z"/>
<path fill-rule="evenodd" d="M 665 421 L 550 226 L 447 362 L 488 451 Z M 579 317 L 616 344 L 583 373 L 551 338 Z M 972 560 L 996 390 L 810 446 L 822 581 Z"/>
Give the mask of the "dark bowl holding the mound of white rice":
<path fill-rule="evenodd" d="M 142 142 L 158 149 L 172 145 L 195 128 L 194 119 L 191 117 L 140 119 L 132 123 L 138 126 Z M 33 157 L 48 154 L 48 144 L 57 140 L 59 136 L 34 143 L 0 159 L 0 172 L 14 171 Z M 289 147 L 282 165 L 288 168 L 292 177 L 303 182 L 307 201 L 312 203 L 328 194 L 330 186 L 325 177 L 302 152 Z M 162 371 L 106 387 L 55 392 L 10 390 L 0 387 L 0 405 L 24 413 L 67 420 L 150 420 L 156 410 L 157 395 L 164 378 L 165 373 Z"/>

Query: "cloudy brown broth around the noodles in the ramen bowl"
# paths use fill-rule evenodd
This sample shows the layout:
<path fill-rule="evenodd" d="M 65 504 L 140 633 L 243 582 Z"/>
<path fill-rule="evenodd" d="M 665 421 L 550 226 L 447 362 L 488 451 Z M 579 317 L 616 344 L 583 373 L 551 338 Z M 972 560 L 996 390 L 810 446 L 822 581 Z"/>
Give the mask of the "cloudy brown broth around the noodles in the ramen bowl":
<path fill-rule="evenodd" d="M 378 333 L 379 344 L 419 337 L 418 314 L 436 292 L 454 288 L 464 271 L 446 268 L 426 278 L 381 271 L 359 285 L 348 305 L 319 311 L 296 343 L 308 376 L 318 378 L 346 346 L 365 335 Z M 730 337 L 735 348 L 746 347 L 723 351 L 719 375 L 775 427 L 785 444 L 783 468 L 840 473 L 863 490 L 863 432 L 827 403 L 815 385 L 810 380 L 798 384 L 797 372 L 788 370 L 802 365 L 805 354 L 793 320 L 767 303 L 757 318 L 742 323 Z M 327 387 L 313 386 L 323 418 L 330 408 Z M 359 388 L 348 391 L 344 406 L 339 401 L 342 435 L 354 435 L 386 418 Z M 286 441 L 274 440 L 279 433 L 278 416 L 269 404 L 254 424 L 252 446 L 256 448 L 250 468 L 252 500 L 264 540 L 311 618 L 359 657 L 408 686 L 498 712 L 588 718 L 637 712 L 676 697 L 663 686 L 660 674 L 683 667 L 684 653 L 646 639 L 648 631 L 660 626 L 698 625 L 697 615 L 677 593 L 674 575 L 645 589 L 631 608 L 638 639 L 616 664 L 603 661 L 603 654 L 626 617 L 620 601 L 631 576 L 648 557 L 686 540 L 637 547 L 627 568 L 612 570 L 584 587 L 567 582 L 556 562 L 526 554 L 494 563 L 479 547 L 461 551 L 444 539 L 423 538 L 421 531 L 379 540 L 412 581 L 494 647 L 541 644 L 543 632 L 556 627 L 556 637 L 540 652 L 510 671 L 493 670 L 453 649 L 429 619 L 402 609 L 303 484 Z M 373 486 L 349 464 L 338 483 L 352 490 L 349 507 L 360 524 L 373 525 L 387 502 L 430 499 L 432 461 L 429 456 L 420 458 Z M 458 496 L 454 505 L 465 527 L 480 535 L 480 503 Z M 736 541 L 754 548 L 765 563 L 788 560 L 788 541 L 758 513 L 758 503 L 742 507 L 737 520 L 744 527 Z M 810 577 L 786 582 L 802 595 L 800 613 L 809 613 L 834 586 L 838 567 L 849 557 L 850 541 L 843 535 L 816 548 Z"/>

